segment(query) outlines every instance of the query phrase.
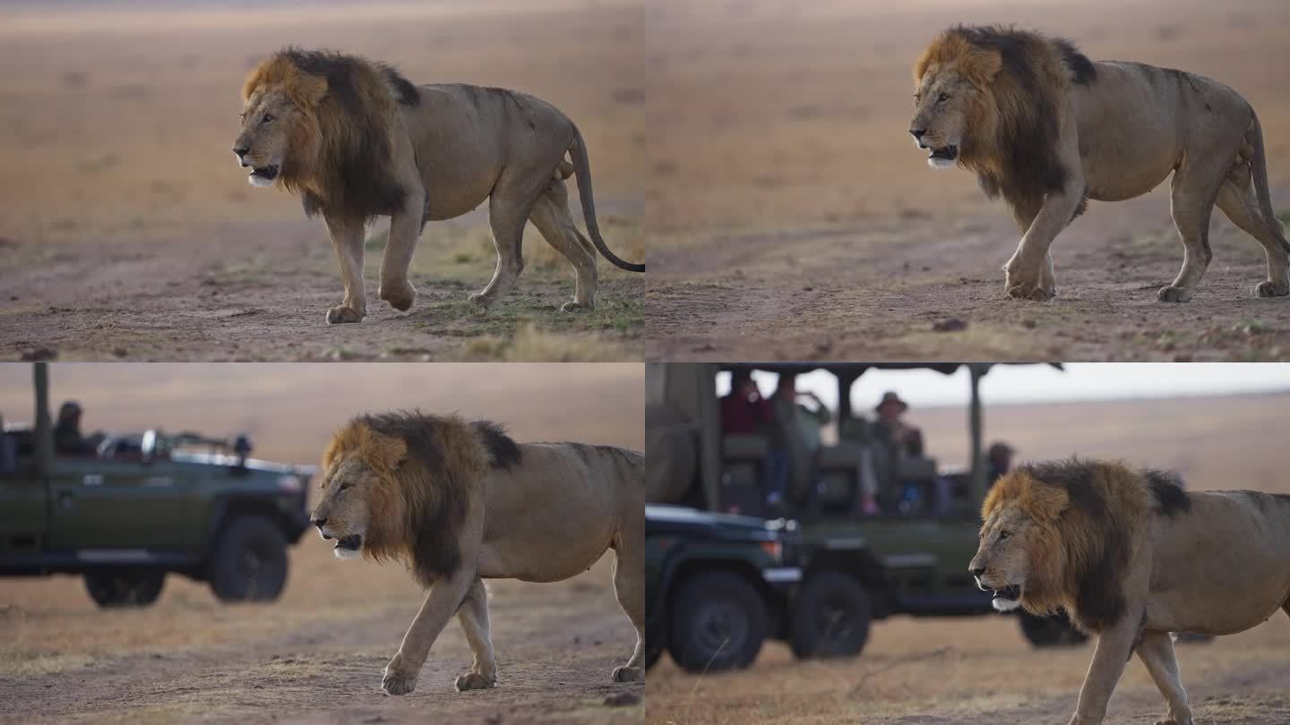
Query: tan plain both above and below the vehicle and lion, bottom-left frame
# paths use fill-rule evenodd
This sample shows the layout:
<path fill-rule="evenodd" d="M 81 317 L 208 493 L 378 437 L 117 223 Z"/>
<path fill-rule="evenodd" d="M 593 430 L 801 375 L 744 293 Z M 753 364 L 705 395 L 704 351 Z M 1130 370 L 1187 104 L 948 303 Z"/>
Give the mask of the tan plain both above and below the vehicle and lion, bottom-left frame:
<path fill-rule="evenodd" d="M 86 435 L 245 432 L 257 459 L 316 466 L 351 417 L 410 408 L 495 421 L 519 441 L 642 450 L 641 377 L 640 364 L 53 364 L 49 388 L 54 415 L 64 400 L 80 404 Z M 5 424 L 30 424 L 32 410 L 31 365 L 0 365 Z M 568 582 L 489 584 L 504 686 L 482 702 L 452 691 L 470 664 L 455 621 L 414 697 L 379 691 L 424 596 L 401 565 L 338 561 L 312 529 L 288 552 L 272 604 L 222 604 L 177 574 L 155 605 L 124 609 L 95 608 L 80 577 L 0 579 L 0 720 L 399 722 L 423 721 L 426 708 L 454 722 L 641 717 L 602 703 L 635 642 L 611 557 Z"/>

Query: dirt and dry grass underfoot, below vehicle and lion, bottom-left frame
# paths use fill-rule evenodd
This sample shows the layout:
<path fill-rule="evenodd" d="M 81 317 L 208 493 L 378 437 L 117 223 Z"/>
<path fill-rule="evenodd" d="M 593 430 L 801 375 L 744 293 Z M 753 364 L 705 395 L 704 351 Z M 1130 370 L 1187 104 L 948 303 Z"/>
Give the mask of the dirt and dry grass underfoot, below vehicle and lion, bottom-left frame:
<path fill-rule="evenodd" d="M 301 547 L 293 564 L 316 561 L 294 577 L 342 577 L 333 586 L 353 586 L 335 569 L 341 562 L 326 561 L 326 547 L 313 537 Z M 470 667 L 470 649 L 453 622 L 422 670 L 417 690 L 404 698 L 381 691 L 381 672 L 421 596 L 397 583 L 402 573 L 391 570 L 397 566 L 386 569 L 378 573 L 379 583 L 372 581 L 373 573 L 351 573 L 374 587 L 368 590 L 375 600 L 370 604 L 347 596 L 329 604 L 325 582 L 304 583 L 321 597 L 313 608 L 221 606 L 208 592 L 187 586 L 183 595 L 151 611 L 97 611 L 71 601 L 80 593 L 79 582 L 58 582 L 68 600 L 62 609 L 0 609 L 0 623 L 9 632 L 6 649 L 19 650 L 0 667 L 0 721 L 640 720 L 644 685 L 609 681 L 610 670 L 631 654 L 635 636 L 613 600 L 608 565 L 559 586 L 494 584 L 490 614 L 501 685 L 453 691 L 453 680 Z M 41 586 L 49 591 L 52 583 Z M 175 586 L 173 575 L 168 586 Z M 293 617 L 293 609 L 304 611 Z M 117 633 L 95 635 L 99 630 Z M 68 646 L 72 636 L 98 644 Z M 623 704 L 606 704 L 619 698 Z"/>

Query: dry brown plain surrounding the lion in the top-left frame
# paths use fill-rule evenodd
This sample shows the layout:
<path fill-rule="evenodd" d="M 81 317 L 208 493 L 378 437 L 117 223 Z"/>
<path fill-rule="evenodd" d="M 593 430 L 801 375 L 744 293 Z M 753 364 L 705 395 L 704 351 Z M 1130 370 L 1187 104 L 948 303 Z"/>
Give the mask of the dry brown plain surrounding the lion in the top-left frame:
<path fill-rule="evenodd" d="M 644 280 L 600 262 L 599 307 L 561 313 L 573 270 L 531 226 L 526 270 L 489 311 L 485 210 L 432 222 L 419 298 L 326 326 L 342 285 L 321 219 L 254 190 L 230 154 L 245 74 L 288 45 L 397 65 L 417 83 L 521 89 L 587 139 L 599 218 L 644 258 L 641 22 L 631 3 L 23 3 L 0 28 L 0 359 L 639 360 Z M 577 41 L 574 41 L 577 39 Z M 580 217 L 580 213 L 575 213 Z"/>

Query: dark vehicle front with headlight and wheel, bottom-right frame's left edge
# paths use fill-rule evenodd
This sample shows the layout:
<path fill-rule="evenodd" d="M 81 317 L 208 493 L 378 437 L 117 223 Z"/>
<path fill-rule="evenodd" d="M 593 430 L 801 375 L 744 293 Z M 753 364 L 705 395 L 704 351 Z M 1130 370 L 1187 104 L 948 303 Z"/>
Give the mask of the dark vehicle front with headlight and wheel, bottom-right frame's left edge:
<path fill-rule="evenodd" d="M 645 667 L 667 649 L 690 672 L 747 667 L 788 631 L 801 579 L 797 525 L 645 507 Z"/>

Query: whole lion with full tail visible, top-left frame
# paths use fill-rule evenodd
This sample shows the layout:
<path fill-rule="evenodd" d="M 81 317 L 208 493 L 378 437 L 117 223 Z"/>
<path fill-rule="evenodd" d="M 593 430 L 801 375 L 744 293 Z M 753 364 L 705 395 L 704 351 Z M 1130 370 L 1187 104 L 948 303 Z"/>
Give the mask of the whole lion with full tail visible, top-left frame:
<path fill-rule="evenodd" d="M 304 213 L 326 221 L 344 280 L 344 299 L 328 311 L 328 324 L 359 323 L 368 313 L 364 228 L 375 217 L 390 217 L 377 294 L 399 311 L 417 299 L 408 264 L 426 222 L 461 217 L 485 199 L 497 268 L 488 286 L 470 295 L 481 306 L 501 299 L 524 270 L 525 222 L 577 272 L 574 298 L 561 310 L 596 306 L 596 250 L 623 270 L 645 271 L 601 239 L 578 126 L 531 95 L 413 85 L 384 63 L 286 48 L 248 76 L 241 119 L 233 155 L 250 168 L 252 186 L 299 194 Z M 569 212 L 570 175 L 590 243 Z"/>

